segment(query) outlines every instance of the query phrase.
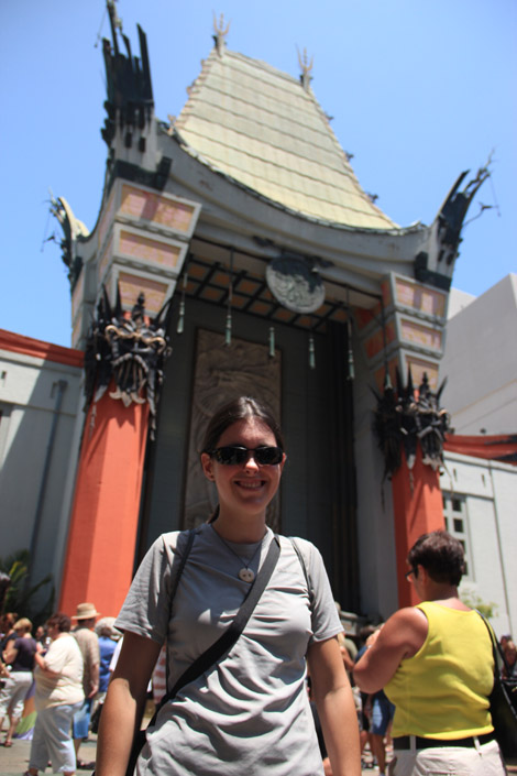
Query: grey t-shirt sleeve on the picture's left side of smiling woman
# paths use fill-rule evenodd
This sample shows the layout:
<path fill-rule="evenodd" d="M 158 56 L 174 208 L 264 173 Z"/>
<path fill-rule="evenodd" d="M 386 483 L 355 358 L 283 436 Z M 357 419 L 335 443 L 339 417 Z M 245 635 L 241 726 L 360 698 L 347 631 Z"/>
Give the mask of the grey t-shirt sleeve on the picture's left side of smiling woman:
<path fill-rule="evenodd" d="M 176 548 L 180 535 L 177 531 L 163 534 L 148 549 L 114 623 L 120 631 L 152 638 L 158 644 L 165 642 L 170 614 L 172 569 L 179 559 Z"/>

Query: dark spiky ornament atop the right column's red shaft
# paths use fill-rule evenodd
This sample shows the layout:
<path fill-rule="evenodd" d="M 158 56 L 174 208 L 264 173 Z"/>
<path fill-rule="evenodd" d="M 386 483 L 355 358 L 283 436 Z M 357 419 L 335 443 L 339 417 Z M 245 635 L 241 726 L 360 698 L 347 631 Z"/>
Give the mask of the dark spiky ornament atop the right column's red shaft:
<path fill-rule="evenodd" d="M 377 408 L 374 414 L 374 433 L 384 456 L 384 479 L 392 479 L 402 464 L 402 451 L 411 472 L 420 444 L 422 461 L 437 470 L 443 466 L 443 442 L 451 430 L 450 416 L 440 407 L 442 382 L 437 393 L 429 386 L 424 373 L 422 382 L 415 391 L 411 371 L 408 371 L 407 385 L 404 385 L 397 370 L 397 391 L 386 376 L 383 395 L 376 391 Z"/>

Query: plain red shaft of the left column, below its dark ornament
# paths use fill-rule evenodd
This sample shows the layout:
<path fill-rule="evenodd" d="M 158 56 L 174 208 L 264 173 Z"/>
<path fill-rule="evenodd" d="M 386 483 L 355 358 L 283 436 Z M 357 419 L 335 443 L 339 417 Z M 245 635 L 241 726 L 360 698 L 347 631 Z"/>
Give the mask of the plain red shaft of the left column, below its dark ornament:
<path fill-rule="evenodd" d="M 116 616 L 128 592 L 147 423 L 147 403 L 125 407 L 109 391 L 88 412 L 59 597 L 67 614 L 89 601 L 101 614 Z"/>

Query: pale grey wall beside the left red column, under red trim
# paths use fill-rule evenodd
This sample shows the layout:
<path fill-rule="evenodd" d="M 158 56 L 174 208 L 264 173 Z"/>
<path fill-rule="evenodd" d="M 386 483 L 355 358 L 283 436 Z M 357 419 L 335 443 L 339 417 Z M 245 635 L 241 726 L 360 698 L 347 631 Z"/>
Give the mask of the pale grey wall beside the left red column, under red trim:
<path fill-rule="evenodd" d="M 51 359 L 0 349 L 0 556 L 30 549 L 40 514 L 33 580 L 52 572 L 58 583 L 82 370 Z M 54 424 L 59 382 L 64 393 Z"/>

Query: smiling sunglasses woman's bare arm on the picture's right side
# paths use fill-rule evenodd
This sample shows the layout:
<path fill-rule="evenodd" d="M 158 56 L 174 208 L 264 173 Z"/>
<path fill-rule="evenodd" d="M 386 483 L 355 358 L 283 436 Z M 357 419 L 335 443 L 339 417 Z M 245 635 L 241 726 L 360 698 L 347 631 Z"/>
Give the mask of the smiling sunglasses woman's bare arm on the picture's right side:
<path fill-rule="evenodd" d="M 311 644 L 308 662 L 332 774 L 361 776 L 358 715 L 337 638 Z"/>

